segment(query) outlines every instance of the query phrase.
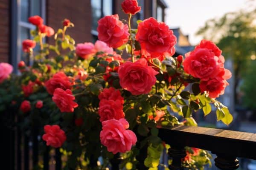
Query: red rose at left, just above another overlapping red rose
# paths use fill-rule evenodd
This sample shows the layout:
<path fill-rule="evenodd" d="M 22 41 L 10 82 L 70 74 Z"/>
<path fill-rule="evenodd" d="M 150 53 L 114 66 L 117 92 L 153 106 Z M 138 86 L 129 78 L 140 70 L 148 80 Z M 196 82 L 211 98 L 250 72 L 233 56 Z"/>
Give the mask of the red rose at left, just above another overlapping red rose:
<path fill-rule="evenodd" d="M 58 72 L 45 82 L 45 87 L 49 94 L 53 94 L 55 88 L 62 88 L 63 90 L 71 89 L 71 82 L 66 74 Z"/>

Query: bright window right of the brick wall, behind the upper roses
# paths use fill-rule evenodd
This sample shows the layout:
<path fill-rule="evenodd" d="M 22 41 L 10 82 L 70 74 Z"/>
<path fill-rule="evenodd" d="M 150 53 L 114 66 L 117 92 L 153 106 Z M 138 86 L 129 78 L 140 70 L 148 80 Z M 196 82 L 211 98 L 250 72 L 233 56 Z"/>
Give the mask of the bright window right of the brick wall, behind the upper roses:
<path fill-rule="evenodd" d="M 98 39 L 98 20 L 106 15 L 113 14 L 113 0 L 91 0 L 93 41 Z"/>

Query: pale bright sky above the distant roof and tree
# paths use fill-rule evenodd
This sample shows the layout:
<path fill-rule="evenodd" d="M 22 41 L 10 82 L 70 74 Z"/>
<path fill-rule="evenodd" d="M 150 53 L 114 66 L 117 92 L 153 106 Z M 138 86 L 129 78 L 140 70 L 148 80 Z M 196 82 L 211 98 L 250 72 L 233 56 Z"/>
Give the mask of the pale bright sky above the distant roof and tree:
<path fill-rule="evenodd" d="M 192 45 L 200 42 L 195 32 L 212 18 L 221 17 L 231 11 L 245 8 L 248 0 L 165 0 L 165 23 L 171 28 L 180 27 L 183 34 L 189 34 Z M 247 5 L 246 5 L 247 4 Z"/>

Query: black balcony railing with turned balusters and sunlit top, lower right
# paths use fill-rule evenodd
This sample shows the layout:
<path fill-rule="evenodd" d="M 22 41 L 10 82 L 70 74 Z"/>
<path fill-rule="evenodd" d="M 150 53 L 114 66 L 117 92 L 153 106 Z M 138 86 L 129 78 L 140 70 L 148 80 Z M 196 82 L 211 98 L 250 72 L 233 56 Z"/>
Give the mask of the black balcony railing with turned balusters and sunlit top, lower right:
<path fill-rule="evenodd" d="M 182 170 L 181 159 L 186 156 L 184 147 L 197 147 L 216 154 L 215 166 L 221 170 L 236 170 L 237 157 L 256 160 L 256 134 L 207 127 L 182 126 L 163 127 L 160 138 L 171 148 L 170 170 Z"/>

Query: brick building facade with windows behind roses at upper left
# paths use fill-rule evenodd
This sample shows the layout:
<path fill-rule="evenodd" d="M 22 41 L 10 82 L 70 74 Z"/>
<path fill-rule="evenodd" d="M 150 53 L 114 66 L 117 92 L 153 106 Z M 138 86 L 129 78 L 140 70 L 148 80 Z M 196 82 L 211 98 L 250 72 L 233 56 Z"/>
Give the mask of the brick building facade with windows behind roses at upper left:
<path fill-rule="evenodd" d="M 122 12 L 123 0 L 0 0 L 0 62 L 9 62 L 17 71 L 17 63 L 26 61 L 22 53 L 21 43 L 25 39 L 32 39 L 29 32 L 35 26 L 28 23 L 28 17 L 39 15 L 44 24 L 55 31 L 61 28 L 64 18 L 70 19 L 75 27 L 67 30 L 76 43 L 91 42 L 97 39 L 97 21 L 110 14 L 119 14 L 120 20 L 127 19 Z M 164 21 L 166 3 L 164 0 L 138 0 L 142 7 L 140 13 L 134 17 L 143 20 L 155 17 Z M 46 39 L 50 44 L 53 39 Z"/>

